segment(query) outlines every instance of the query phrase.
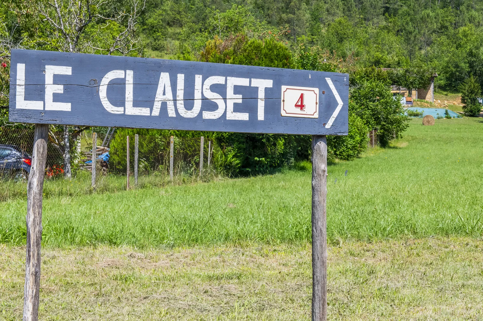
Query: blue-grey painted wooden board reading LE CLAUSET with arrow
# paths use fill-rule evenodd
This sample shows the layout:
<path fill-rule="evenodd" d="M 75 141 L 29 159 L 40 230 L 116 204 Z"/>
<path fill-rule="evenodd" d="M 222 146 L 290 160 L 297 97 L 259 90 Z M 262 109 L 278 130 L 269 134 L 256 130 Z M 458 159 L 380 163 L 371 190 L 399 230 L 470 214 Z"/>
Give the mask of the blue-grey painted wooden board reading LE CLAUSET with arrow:
<path fill-rule="evenodd" d="M 345 135 L 349 75 L 12 50 L 14 122 Z"/>

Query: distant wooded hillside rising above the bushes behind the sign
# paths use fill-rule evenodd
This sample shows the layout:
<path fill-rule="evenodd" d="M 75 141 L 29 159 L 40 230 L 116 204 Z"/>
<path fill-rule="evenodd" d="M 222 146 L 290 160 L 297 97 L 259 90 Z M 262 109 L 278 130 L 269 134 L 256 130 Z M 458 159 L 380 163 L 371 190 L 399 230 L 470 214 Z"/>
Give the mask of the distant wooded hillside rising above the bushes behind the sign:
<path fill-rule="evenodd" d="M 272 36 L 295 50 L 320 46 L 363 67 L 420 67 L 436 86 L 483 82 L 481 0 L 148 0 L 145 54 L 198 54 L 207 40 Z"/>

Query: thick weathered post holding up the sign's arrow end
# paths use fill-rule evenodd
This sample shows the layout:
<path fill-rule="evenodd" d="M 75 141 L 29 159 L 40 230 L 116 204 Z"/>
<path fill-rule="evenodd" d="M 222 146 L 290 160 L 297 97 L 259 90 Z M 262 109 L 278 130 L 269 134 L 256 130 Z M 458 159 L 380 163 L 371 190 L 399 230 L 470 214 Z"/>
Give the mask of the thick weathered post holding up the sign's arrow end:
<path fill-rule="evenodd" d="M 312 136 L 312 321 L 327 321 L 327 138 Z"/>

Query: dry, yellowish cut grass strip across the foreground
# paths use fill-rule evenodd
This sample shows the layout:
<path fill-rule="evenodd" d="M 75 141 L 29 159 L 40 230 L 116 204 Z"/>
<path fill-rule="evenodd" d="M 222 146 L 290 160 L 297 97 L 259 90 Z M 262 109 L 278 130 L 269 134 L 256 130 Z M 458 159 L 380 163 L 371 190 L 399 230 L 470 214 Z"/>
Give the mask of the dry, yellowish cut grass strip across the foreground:
<path fill-rule="evenodd" d="M 351 242 L 328 254 L 329 320 L 481 320 L 483 241 Z M 302 245 L 43 250 L 41 320 L 310 320 Z M 0 245 L 0 320 L 20 320 L 25 248 Z"/>

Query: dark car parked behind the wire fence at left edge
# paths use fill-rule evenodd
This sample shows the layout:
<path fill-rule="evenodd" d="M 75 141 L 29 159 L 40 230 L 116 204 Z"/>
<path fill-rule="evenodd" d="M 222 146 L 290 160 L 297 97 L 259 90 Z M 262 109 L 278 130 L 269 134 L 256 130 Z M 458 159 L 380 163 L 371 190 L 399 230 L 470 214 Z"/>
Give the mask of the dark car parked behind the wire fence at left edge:
<path fill-rule="evenodd" d="M 27 180 L 32 158 L 22 149 L 14 145 L 0 144 L 0 176 L 12 177 L 15 180 Z"/>

